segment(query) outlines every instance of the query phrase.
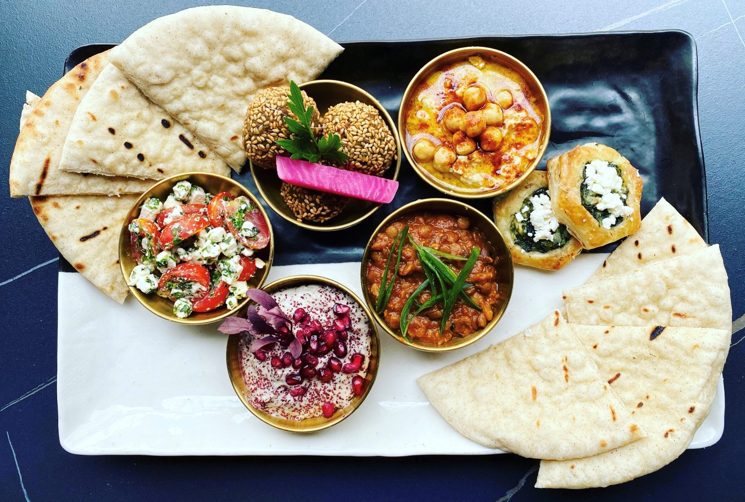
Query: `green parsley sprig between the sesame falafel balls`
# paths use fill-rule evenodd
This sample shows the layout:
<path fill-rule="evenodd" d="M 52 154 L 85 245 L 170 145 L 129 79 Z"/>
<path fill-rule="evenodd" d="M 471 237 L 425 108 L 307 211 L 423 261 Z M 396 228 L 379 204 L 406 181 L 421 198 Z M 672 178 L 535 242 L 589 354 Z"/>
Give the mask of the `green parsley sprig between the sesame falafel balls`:
<path fill-rule="evenodd" d="M 341 138 L 333 132 L 329 135 L 316 139 L 311 126 L 311 116 L 313 107 L 305 108 L 302 101 L 302 94 L 297 83 L 290 83 L 290 100 L 287 106 L 299 120 L 290 117 L 282 117 L 294 134 L 292 139 L 277 140 L 276 144 L 291 153 L 290 158 L 299 158 L 308 162 L 317 162 L 321 157 L 329 161 L 343 162 L 349 157 L 341 151 Z"/>

